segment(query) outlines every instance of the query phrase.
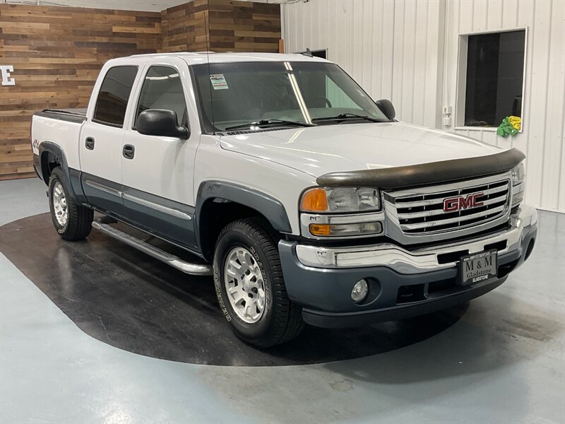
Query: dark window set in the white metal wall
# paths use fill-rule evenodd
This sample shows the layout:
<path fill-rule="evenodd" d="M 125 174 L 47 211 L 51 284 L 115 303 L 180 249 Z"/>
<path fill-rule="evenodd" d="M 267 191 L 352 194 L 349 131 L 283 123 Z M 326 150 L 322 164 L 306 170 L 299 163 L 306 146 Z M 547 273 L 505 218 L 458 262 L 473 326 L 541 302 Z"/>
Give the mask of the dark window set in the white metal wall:
<path fill-rule="evenodd" d="M 521 117 L 525 30 L 468 36 L 465 126 Z"/>

